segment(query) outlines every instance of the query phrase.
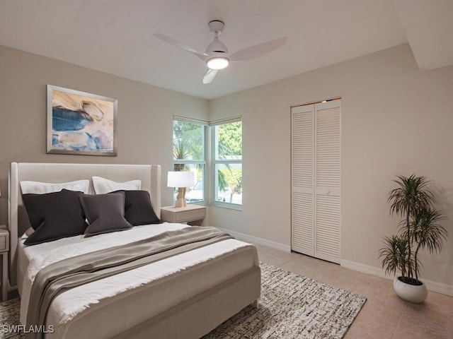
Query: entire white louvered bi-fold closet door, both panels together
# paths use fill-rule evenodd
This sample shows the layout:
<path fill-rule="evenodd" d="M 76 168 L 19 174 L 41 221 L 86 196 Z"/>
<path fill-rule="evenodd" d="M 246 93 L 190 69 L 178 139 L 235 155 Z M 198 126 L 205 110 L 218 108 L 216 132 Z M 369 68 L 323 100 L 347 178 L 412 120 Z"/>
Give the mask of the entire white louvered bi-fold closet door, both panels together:
<path fill-rule="evenodd" d="M 291 249 L 334 263 L 340 263 L 340 105 L 291 109 Z"/>

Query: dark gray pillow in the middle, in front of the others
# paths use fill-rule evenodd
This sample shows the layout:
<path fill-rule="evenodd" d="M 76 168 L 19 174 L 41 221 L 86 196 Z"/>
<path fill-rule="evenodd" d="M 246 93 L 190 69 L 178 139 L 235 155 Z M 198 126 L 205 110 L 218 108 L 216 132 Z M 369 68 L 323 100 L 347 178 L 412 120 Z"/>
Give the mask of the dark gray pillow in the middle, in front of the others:
<path fill-rule="evenodd" d="M 85 237 L 115 231 L 127 230 L 132 227 L 125 220 L 125 194 L 84 194 L 79 196 L 80 204 L 84 210 L 88 227 Z"/>

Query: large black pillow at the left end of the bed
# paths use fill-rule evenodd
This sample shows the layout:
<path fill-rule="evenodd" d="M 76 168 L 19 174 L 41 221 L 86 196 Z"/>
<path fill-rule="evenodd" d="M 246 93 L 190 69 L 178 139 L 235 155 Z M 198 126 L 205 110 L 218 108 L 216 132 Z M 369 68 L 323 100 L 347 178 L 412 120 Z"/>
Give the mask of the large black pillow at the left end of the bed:
<path fill-rule="evenodd" d="M 47 194 L 23 194 L 23 204 L 35 230 L 24 244 L 35 245 L 84 234 L 87 225 L 79 203 L 82 194 L 67 189 Z"/>

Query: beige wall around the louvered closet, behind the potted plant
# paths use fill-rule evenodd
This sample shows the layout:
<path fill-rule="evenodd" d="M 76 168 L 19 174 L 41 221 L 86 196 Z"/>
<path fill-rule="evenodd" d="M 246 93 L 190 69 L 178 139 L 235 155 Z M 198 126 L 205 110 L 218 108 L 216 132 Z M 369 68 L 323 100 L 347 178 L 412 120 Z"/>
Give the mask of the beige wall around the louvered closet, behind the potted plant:
<path fill-rule="evenodd" d="M 396 232 L 388 192 L 396 174 L 431 179 L 450 239 L 423 254 L 423 278 L 453 287 L 453 67 L 419 71 L 408 44 L 212 100 L 210 119 L 243 117 L 243 210 L 210 222 L 290 244 L 291 105 L 342 100 L 341 256 L 380 270 L 382 237 Z"/>

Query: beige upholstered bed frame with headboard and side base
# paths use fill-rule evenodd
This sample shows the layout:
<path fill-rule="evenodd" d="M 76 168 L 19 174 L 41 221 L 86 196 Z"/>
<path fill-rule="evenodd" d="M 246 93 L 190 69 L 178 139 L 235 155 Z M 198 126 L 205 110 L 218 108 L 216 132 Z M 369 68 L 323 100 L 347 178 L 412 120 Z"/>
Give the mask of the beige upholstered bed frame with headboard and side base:
<path fill-rule="evenodd" d="M 142 181 L 142 189 L 151 194 L 151 204 L 160 218 L 161 167 L 160 165 L 103 165 L 16 163 L 9 169 L 8 229 L 11 234 L 9 257 L 10 285 L 16 285 L 16 258 L 18 237 L 30 227 L 23 206 L 20 182 L 71 182 L 105 177 L 115 182 L 133 179 Z M 93 191 L 92 186 L 90 192 Z M 163 314 L 144 321 L 129 331 L 117 333 L 115 338 L 200 338 L 220 323 L 241 311 L 248 304 L 257 304 L 260 297 L 260 268 L 238 275 L 210 290 L 168 309 Z"/>

